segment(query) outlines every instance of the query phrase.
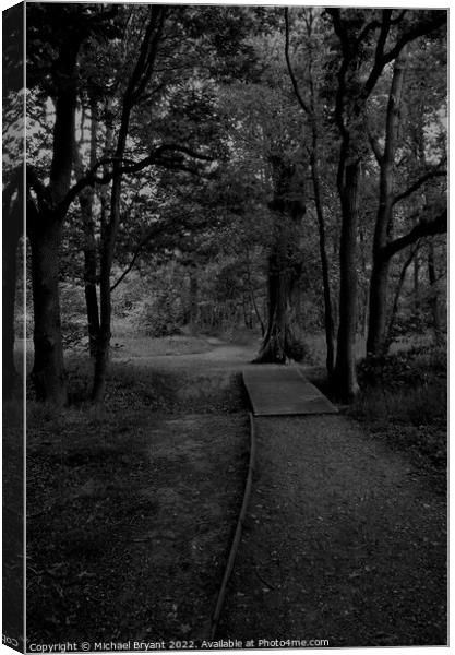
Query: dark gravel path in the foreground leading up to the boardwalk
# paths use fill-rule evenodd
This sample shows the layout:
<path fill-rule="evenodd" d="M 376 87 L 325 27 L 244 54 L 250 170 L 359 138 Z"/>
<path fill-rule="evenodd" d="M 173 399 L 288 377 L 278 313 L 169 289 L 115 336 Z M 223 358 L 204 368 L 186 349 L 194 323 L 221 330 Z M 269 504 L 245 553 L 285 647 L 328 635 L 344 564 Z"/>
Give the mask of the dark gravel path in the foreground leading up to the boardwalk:
<path fill-rule="evenodd" d="M 218 638 L 444 644 L 445 507 L 340 416 L 261 418 Z"/>

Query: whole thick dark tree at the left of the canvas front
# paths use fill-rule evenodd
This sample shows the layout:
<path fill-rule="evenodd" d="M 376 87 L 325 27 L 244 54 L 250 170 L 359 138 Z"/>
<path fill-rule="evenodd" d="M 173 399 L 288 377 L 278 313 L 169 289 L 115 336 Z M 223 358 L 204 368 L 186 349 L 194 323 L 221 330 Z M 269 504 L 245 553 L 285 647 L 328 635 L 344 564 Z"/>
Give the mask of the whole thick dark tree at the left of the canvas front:
<path fill-rule="evenodd" d="M 28 76 L 31 88 L 53 99 L 55 122 L 49 181 L 27 169 L 27 234 L 32 250 L 35 360 L 32 379 L 38 400 L 67 403 L 67 381 L 60 325 L 59 247 L 61 228 L 74 195 L 71 176 L 74 117 L 77 103 L 77 57 L 91 35 L 104 32 L 116 14 L 99 5 L 27 5 Z M 61 25 L 69 28 L 61 31 Z M 50 50 L 50 51 L 49 51 Z M 43 55 L 44 52 L 44 55 Z"/>

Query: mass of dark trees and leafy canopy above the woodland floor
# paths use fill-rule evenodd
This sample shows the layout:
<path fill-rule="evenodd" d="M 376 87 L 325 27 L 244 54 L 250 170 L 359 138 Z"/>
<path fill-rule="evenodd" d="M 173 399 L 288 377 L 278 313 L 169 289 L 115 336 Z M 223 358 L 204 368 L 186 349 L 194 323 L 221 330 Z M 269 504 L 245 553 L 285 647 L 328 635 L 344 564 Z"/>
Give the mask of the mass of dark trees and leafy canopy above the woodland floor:
<path fill-rule="evenodd" d="M 356 334 L 379 355 L 411 311 L 411 264 L 412 311 L 441 333 L 441 306 L 435 317 L 416 289 L 443 297 L 445 11 L 26 11 L 38 397 L 68 400 L 62 284 L 85 289 L 96 402 L 122 285 L 137 274 L 157 312 L 175 285 L 166 329 L 232 317 L 262 330 L 259 360 L 302 356 L 306 332 L 323 331 L 345 397 Z M 22 92 L 10 85 L 10 114 Z"/>

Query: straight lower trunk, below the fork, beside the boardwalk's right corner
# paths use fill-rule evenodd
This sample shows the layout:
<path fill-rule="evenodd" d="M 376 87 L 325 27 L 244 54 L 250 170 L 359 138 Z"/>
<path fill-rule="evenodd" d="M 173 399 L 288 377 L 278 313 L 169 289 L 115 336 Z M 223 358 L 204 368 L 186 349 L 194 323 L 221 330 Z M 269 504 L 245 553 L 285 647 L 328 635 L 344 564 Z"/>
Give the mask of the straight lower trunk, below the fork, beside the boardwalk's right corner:
<path fill-rule="evenodd" d="M 342 159 L 343 165 L 343 159 Z M 337 396 L 350 402 L 359 391 L 356 373 L 357 325 L 357 226 L 359 215 L 360 162 L 344 166 L 340 187 L 342 237 L 339 248 L 339 326 L 333 376 Z"/>

